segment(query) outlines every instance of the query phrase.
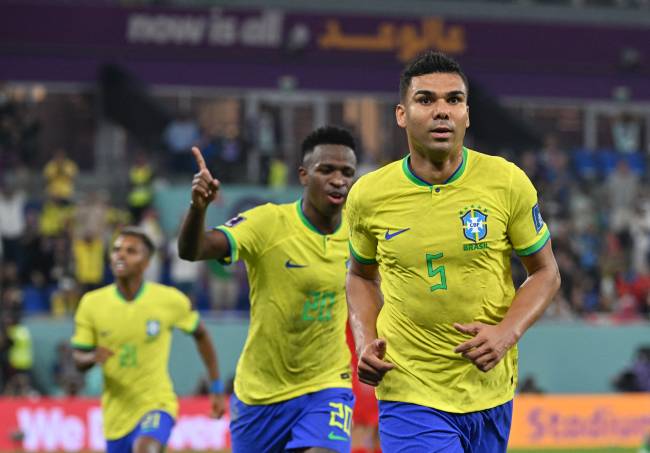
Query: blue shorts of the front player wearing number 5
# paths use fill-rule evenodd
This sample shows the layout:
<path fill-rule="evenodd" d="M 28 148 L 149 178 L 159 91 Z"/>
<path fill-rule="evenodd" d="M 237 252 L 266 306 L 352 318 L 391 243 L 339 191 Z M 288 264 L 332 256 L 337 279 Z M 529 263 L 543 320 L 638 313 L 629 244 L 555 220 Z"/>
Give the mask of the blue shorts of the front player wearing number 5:
<path fill-rule="evenodd" d="M 381 449 L 391 453 L 505 453 L 511 421 L 512 401 L 467 414 L 379 401 Z"/>

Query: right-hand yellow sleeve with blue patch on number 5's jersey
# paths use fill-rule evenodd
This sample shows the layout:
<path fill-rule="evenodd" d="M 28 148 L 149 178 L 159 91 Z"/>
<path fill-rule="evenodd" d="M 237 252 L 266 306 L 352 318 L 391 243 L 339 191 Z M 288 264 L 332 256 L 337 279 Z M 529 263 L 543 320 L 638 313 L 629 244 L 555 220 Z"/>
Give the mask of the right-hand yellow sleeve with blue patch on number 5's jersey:
<path fill-rule="evenodd" d="M 508 238 L 519 256 L 541 250 L 550 239 L 537 201 L 537 191 L 526 174 L 513 165 L 510 184 Z"/>

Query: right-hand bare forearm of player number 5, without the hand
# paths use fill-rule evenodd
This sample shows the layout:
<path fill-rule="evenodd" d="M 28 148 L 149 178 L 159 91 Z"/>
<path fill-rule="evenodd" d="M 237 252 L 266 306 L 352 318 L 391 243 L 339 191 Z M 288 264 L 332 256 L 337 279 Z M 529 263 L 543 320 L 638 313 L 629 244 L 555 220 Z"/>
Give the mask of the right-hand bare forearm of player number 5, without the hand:
<path fill-rule="evenodd" d="M 539 319 L 560 288 L 557 267 L 548 266 L 529 275 L 519 287 L 517 295 L 501 325 L 514 334 L 515 342 Z"/>

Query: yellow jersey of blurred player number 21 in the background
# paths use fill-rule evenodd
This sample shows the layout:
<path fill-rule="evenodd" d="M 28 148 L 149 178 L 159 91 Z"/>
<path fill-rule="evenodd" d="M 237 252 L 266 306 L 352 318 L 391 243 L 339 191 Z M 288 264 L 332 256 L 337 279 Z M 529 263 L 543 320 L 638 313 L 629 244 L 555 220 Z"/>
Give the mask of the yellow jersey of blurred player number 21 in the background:
<path fill-rule="evenodd" d="M 176 417 L 178 401 L 167 371 L 173 328 L 192 333 L 199 324 L 190 300 L 175 288 L 145 282 L 132 301 L 117 286 L 86 293 L 75 315 L 72 345 L 115 354 L 102 367 L 104 434 L 119 439 L 142 416 L 161 410 Z"/>

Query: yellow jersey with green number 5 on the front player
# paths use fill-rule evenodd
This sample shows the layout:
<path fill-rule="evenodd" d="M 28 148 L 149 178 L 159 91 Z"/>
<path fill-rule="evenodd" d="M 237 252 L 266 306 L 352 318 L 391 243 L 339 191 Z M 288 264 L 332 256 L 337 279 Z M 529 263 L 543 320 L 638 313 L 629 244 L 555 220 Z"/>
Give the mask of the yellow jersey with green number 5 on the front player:
<path fill-rule="evenodd" d="M 454 352 L 469 337 L 453 323 L 499 323 L 515 295 L 512 251 L 539 251 L 549 232 L 519 168 L 462 152 L 444 184 L 419 179 L 407 156 L 361 177 L 348 197 L 351 252 L 379 266 L 377 333 L 396 365 L 377 387 L 380 400 L 467 413 L 514 396 L 517 348 L 484 373 Z"/>

